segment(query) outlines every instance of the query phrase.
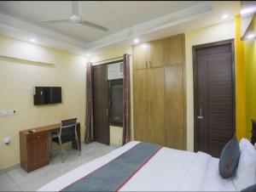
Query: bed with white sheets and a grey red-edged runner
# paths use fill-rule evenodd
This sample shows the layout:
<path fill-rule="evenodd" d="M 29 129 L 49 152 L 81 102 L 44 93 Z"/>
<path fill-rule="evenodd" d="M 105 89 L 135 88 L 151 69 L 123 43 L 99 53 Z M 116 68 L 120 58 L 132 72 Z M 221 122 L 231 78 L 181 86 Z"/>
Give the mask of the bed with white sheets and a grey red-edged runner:
<path fill-rule="evenodd" d="M 160 146 L 149 146 L 148 149 L 151 149 L 151 152 L 147 152 L 148 155 L 143 155 L 143 151 L 147 151 L 142 150 L 143 148 L 139 149 L 140 146 L 145 147 L 143 144 L 137 141 L 125 144 L 108 155 L 67 172 L 60 178 L 44 185 L 38 191 L 81 190 L 81 186 L 75 185 L 83 182 L 83 179 L 85 179 L 85 185 L 86 182 L 90 182 L 88 183 L 90 185 L 96 182 L 99 177 L 99 179 L 102 179 L 103 176 L 103 179 L 108 178 L 108 171 L 111 169 L 111 174 L 116 173 L 121 178 L 124 171 L 120 170 L 119 166 L 126 166 L 127 163 L 122 162 L 124 159 L 128 161 L 129 165 L 131 163 L 130 167 L 125 168 L 132 171 L 117 181 L 113 188 L 107 187 L 111 186 L 110 183 L 113 179 L 104 181 L 103 189 L 106 187 L 107 190 L 114 191 L 236 191 L 231 178 L 223 179 L 219 176 L 217 158 L 202 152 L 172 150 Z M 148 145 L 146 144 L 146 146 Z M 136 155 L 142 154 L 143 157 L 135 155 L 134 159 L 128 158 L 127 160 L 125 155 L 131 157 L 132 155 L 128 153 L 136 149 L 141 151 L 135 152 Z M 120 160 L 120 157 L 123 157 L 123 160 Z M 144 158 L 144 160 L 138 162 L 136 158 Z M 115 171 L 113 172 L 113 170 Z M 92 187 L 90 190 L 102 190 L 102 188 Z"/>

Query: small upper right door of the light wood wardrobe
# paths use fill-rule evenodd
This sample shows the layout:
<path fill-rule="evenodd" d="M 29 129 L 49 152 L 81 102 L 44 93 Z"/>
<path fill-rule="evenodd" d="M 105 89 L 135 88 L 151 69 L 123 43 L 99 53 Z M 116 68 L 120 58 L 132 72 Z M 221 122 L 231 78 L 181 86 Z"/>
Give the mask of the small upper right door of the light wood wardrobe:
<path fill-rule="evenodd" d="M 183 34 L 164 39 L 164 62 L 166 65 L 183 64 Z"/>

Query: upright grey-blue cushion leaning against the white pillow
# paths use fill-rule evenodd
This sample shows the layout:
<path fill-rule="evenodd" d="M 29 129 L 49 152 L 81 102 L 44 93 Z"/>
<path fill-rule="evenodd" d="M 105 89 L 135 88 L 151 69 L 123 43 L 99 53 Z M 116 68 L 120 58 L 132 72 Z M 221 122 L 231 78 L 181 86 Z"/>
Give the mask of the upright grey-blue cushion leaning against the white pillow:
<path fill-rule="evenodd" d="M 240 148 L 236 137 L 224 146 L 218 162 L 218 172 L 222 178 L 230 178 L 238 166 Z"/>

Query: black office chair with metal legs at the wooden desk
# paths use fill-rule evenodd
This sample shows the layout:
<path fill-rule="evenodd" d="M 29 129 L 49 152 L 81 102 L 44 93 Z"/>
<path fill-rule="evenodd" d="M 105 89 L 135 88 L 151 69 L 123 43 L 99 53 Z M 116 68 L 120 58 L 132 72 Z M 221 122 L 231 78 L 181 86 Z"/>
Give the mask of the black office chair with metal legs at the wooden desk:
<path fill-rule="evenodd" d="M 76 140 L 78 144 L 79 155 L 81 155 L 79 148 L 79 137 L 77 133 L 77 118 L 61 121 L 60 133 L 52 133 L 51 135 L 52 142 L 60 145 L 62 163 L 64 162 L 62 155 L 62 144 Z"/>

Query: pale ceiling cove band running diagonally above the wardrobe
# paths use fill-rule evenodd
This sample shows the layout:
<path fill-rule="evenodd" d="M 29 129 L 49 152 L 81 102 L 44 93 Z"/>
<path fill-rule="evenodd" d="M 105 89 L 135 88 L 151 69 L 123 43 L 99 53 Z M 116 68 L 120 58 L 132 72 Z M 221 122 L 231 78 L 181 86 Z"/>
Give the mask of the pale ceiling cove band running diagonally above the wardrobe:
<path fill-rule="evenodd" d="M 189 20 L 194 20 L 204 14 L 210 14 L 211 12 L 211 2 L 198 3 L 189 8 L 184 8 L 176 13 L 166 14 L 157 19 L 149 20 L 123 31 L 113 33 L 112 35 L 103 37 L 95 42 L 90 42 L 86 44 L 86 47 L 88 48 L 88 51 L 104 48 L 117 42 L 122 42 L 137 36 L 143 36 L 154 31 L 160 31 L 173 25 L 182 24 L 183 22 L 187 22 Z"/>

